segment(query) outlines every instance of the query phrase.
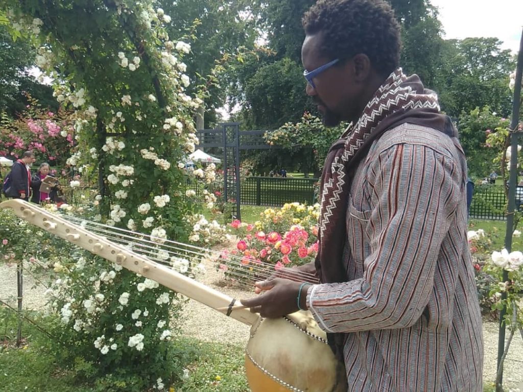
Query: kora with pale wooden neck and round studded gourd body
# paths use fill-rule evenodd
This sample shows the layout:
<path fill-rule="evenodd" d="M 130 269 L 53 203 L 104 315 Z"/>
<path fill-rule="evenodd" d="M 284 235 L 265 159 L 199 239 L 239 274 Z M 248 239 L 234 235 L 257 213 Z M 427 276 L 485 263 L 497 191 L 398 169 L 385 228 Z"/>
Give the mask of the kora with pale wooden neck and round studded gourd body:
<path fill-rule="evenodd" d="M 18 217 L 33 225 L 251 326 L 245 350 L 245 370 L 253 392 L 347 390 L 344 366 L 335 358 L 325 332 L 317 326 L 310 312 L 297 312 L 277 319 L 261 318 L 248 309 L 234 308 L 234 298 L 39 205 L 14 199 L 0 203 L 0 207 L 12 209 Z"/>

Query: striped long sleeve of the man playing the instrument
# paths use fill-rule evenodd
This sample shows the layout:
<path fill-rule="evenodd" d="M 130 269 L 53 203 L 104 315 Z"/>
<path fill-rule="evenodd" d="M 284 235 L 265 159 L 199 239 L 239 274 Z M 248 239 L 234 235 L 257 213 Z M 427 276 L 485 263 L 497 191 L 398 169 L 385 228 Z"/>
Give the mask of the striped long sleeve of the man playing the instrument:
<path fill-rule="evenodd" d="M 462 198 L 462 173 L 454 162 L 425 145 L 397 144 L 371 164 L 363 276 L 308 291 L 307 306 L 322 329 L 405 328 L 419 319 L 434 289 L 441 243 Z M 363 249 L 351 252 L 362 255 Z"/>

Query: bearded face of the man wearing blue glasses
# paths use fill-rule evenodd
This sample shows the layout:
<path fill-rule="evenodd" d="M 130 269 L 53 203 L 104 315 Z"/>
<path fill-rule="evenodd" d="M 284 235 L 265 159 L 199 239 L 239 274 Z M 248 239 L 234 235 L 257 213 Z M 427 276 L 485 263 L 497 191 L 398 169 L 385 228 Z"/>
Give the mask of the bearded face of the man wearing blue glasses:
<path fill-rule="evenodd" d="M 334 59 L 321 54 L 322 33 L 306 36 L 301 49 L 303 66 L 309 72 Z M 359 117 L 357 100 L 360 87 L 351 75 L 351 60 L 342 60 L 314 79 L 314 87 L 307 84 L 311 96 L 322 114 L 326 126 L 336 126 L 340 121 L 356 121 Z"/>

